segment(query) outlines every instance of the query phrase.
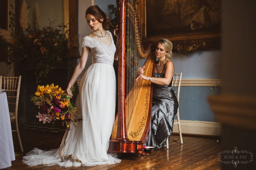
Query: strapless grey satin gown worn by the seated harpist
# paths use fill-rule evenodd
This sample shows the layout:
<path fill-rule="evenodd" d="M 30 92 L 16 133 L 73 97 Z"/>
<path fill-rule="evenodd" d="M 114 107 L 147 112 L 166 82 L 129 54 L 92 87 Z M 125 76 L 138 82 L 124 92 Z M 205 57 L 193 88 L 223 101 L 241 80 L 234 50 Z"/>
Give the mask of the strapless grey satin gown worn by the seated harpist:
<path fill-rule="evenodd" d="M 154 77 L 164 78 L 164 74 L 154 73 Z M 169 85 L 153 84 L 151 122 L 144 146 L 160 149 L 165 145 L 167 137 L 172 133 L 178 107 L 177 98 L 172 90 L 172 81 Z"/>

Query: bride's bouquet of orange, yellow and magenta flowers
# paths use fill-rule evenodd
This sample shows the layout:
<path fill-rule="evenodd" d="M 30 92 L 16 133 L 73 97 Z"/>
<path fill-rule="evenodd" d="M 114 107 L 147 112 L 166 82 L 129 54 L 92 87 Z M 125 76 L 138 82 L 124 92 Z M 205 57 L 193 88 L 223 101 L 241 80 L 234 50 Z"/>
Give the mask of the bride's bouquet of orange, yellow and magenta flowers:
<path fill-rule="evenodd" d="M 72 88 L 72 93 L 76 91 Z M 70 102 L 70 96 L 64 93 L 64 90 L 59 85 L 38 85 L 35 95 L 31 96 L 31 101 L 38 106 L 39 112 L 36 117 L 43 123 L 55 123 L 56 120 L 61 120 L 67 125 L 67 130 L 70 130 L 70 123 L 74 126 L 82 116 L 79 115 L 77 108 Z"/>

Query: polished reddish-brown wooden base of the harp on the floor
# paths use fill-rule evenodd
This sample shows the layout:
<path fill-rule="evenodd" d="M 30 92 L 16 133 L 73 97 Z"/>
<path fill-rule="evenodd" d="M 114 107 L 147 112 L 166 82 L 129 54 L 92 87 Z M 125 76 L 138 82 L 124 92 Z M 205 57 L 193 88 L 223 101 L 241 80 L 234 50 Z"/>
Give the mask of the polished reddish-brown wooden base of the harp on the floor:
<path fill-rule="evenodd" d="M 143 143 L 142 141 L 110 139 L 108 152 L 137 153 L 143 155 Z"/>

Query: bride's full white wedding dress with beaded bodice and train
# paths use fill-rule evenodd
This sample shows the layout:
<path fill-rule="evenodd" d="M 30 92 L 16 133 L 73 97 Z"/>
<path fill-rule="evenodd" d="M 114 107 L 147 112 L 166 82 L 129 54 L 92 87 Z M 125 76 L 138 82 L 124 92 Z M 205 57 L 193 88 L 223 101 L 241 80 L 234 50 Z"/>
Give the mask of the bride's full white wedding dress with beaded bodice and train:
<path fill-rule="evenodd" d="M 96 166 L 120 163 L 116 154 L 109 154 L 108 145 L 115 119 L 116 77 L 113 68 L 116 51 L 113 37 L 108 46 L 85 36 L 82 48 L 91 48 L 93 64 L 86 70 L 80 82 L 76 106 L 83 115 L 77 127 L 71 123 L 71 130 L 62 139 L 60 148 L 43 151 L 34 148 L 23 157 L 29 166 L 60 165 Z M 62 159 L 61 159 L 62 158 Z"/>

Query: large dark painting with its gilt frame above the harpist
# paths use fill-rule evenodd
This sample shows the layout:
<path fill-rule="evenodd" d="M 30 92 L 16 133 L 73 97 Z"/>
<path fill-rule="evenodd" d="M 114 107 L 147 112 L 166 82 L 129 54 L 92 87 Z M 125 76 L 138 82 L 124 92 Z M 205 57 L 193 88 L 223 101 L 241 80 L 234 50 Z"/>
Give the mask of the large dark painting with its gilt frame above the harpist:
<path fill-rule="evenodd" d="M 220 47 L 220 0 L 134 0 L 142 38 L 173 42 L 180 53 Z"/>

